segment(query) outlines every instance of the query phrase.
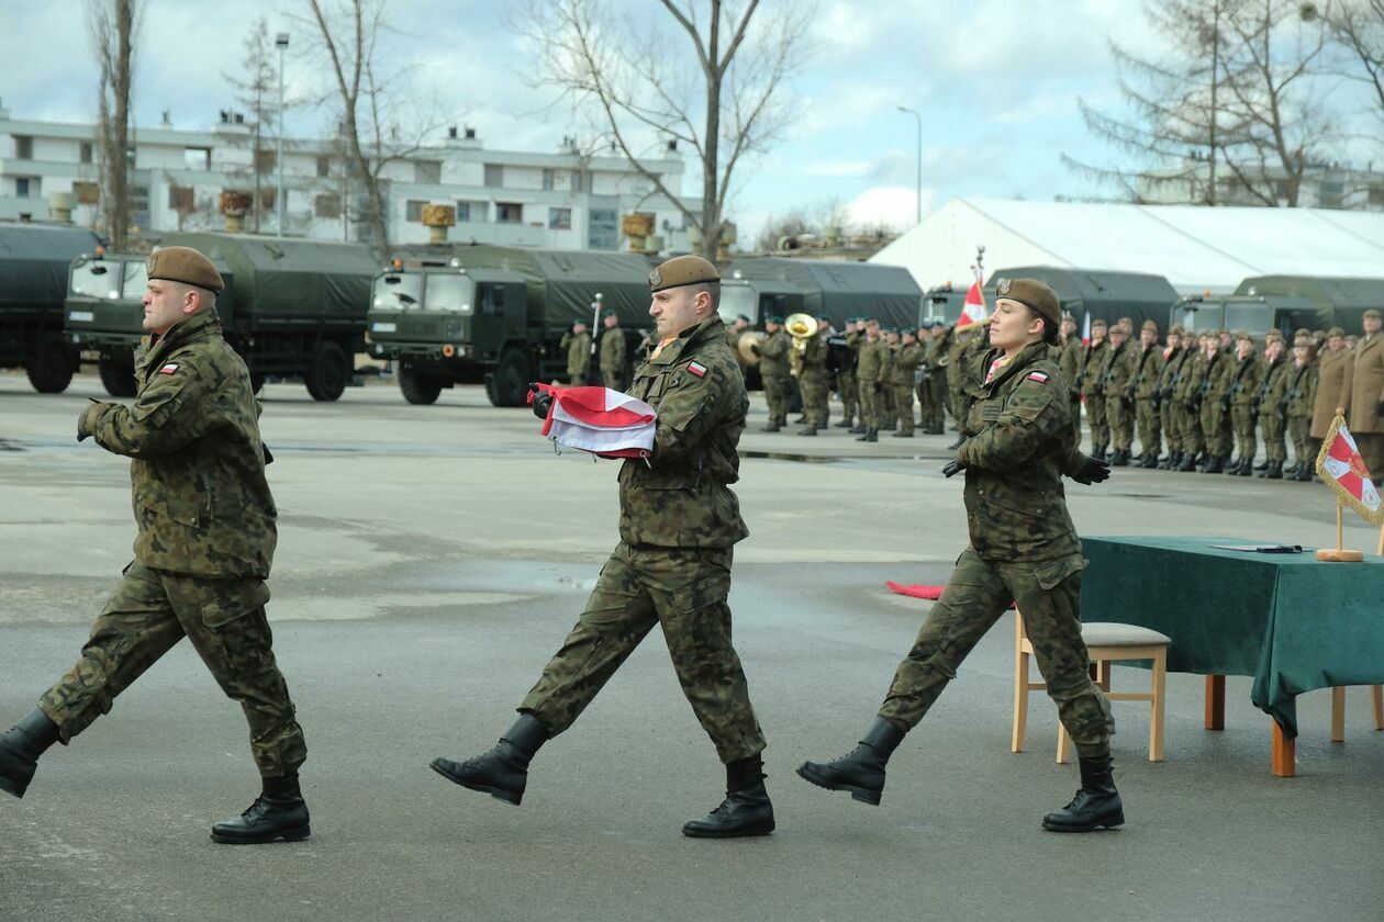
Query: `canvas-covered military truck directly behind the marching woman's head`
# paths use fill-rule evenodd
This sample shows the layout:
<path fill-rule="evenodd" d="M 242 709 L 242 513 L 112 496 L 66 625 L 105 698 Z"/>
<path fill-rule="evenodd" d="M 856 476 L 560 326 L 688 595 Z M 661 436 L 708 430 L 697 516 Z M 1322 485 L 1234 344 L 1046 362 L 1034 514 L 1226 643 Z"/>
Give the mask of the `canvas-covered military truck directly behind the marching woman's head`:
<path fill-rule="evenodd" d="M 1001 278 L 1035 278 L 1046 282 L 1057 293 L 1062 310 L 1077 318 L 1077 329 L 1089 329 L 1091 321 L 1114 323 L 1121 317 L 1133 321 L 1135 333 L 1145 321 L 1158 325 L 1165 333 L 1168 307 L 1178 300 L 1178 292 L 1161 275 L 1145 272 L 1113 272 L 1107 270 L 1075 270 L 1057 265 L 1013 265 L 991 272 L 985 288 L 990 293 Z M 992 294 L 987 293 L 987 300 Z"/>

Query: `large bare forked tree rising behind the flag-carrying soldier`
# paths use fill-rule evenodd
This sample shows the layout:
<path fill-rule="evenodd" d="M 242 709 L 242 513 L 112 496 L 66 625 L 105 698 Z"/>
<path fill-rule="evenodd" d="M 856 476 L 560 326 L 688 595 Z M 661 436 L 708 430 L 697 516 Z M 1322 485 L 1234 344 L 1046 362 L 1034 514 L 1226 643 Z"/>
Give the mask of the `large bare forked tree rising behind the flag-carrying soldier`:
<path fill-rule="evenodd" d="M 635 33 L 601 0 L 533 1 L 511 28 L 538 51 L 534 83 L 592 112 L 602 135 L 700 231 L 702 253 L 714 258 L 736 169 L 767 151 L 787 126 L 781 90 L 801 64 L 812 7 L 785 3 L 756 18 L 760 0 L 660 6 L 671 18 L 663 25 L 686 43 L 682 53 L 659 28 Z M 699 210 L 642 159 L 668 140 L 696 152 Z"/>

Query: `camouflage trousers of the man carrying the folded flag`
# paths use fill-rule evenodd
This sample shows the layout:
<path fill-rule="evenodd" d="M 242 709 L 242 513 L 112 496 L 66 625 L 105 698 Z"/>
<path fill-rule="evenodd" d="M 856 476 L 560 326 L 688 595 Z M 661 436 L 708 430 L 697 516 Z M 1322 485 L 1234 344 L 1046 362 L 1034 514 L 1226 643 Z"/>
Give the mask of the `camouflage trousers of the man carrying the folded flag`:
<path fill-rule="evenodd" d="M 731 646 L 731 549 L 616 546 L 585 611 L 519 705 L 558 735 L 660 625 L 702 728 L 721 762 L 764 749 L 749 683 Z"/>

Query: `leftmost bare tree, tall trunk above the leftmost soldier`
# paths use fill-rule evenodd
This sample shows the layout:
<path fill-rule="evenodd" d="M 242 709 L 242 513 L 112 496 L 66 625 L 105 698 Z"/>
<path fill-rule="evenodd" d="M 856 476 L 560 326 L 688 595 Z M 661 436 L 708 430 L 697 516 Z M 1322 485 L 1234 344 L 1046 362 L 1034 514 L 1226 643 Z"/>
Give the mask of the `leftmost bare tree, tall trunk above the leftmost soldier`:
<path fill-rule="evenodd" d="M 87 29 L 100 66 L 97 149 L 101 158 L 98 221 L 111 246 L 130 232 L 130 87 L 134 80 L 136 0 L 87 0 Z"/>

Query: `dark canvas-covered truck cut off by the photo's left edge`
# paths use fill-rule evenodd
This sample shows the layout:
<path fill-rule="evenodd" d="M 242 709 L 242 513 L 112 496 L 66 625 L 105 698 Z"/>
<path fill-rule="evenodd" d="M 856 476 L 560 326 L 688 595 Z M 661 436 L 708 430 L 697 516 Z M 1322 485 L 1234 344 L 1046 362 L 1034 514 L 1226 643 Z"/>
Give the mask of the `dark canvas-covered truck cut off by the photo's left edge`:
<path fill-rule="evenodd" d="M 0 223 L 0 368 L 24 366 L 40 394 L 72 383 L 76 350 L 62 339 L 68 265 L 100 242 L 76 227 Z"/>

